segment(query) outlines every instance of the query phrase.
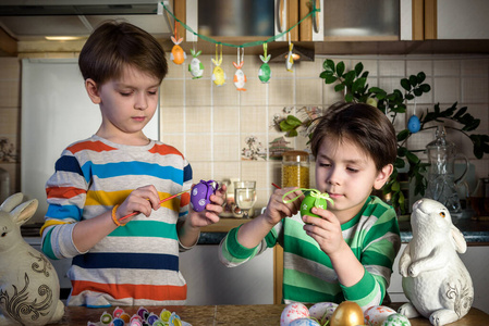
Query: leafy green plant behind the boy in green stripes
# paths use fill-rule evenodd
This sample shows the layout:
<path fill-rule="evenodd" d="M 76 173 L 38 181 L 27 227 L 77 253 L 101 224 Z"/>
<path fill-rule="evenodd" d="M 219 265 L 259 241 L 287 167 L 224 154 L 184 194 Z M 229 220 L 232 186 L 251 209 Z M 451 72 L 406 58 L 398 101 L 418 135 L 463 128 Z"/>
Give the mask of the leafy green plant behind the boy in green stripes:
<path fill-rule="evenodd" d="M 429 84 L 425 83 L 426 75 L 420 72 L 417 75 L 411 75 L 407 78 L 402 78 L 400 85 L 402 89 L 394 89 L 388 93 L 386 90 L 379 87 L 369 87 L 368 71 L 364 71 L 364 65 L 358 62 L 355 67 L 349 72 L 345 71 L 345 64 L 341 61 L 334 64 L 332 60 L 325 60 L 323 72 L 319 75 L 325 80 L 325 84 L 335 84 L 334 90 L 344 93 L 344 100 L 346 102 L 365 102 L 377 106 L 391 117 L 394 124 L 399 114 L 406 113 L 406 102 L 414 100 L 416 97 L 420 97 L 431 90 Z M 481 159 L 485 153 L 489 153 L 489 136 L 488 135 L 475 135 L 468 134 L 475 130 L 480 120 L 475 118 L 467 112 L 466 106 L 457 108 L 455 102 L 453 105 L 445 110 L 440 109 L 440 104 L 437 103 L 432 110 L 426 110 L 420 117 L 419 130 L 427 130 L 436 128 L 432 122 L 443 123 L 443 121 L 453 121 L 460 127 L 445 126 L 445 128 L 454 129 L 470 139 L 474 145 L 474 155 L 477 159 Z M 280 122 L 280 129 L 286 131 L 289 137 L 297 136 L 297 129 L 305 127 L 306 130 L 310 130 L 309 127 L 314 124 L 314 120 L 306 118 L 301 121 L 294 115 L 289 115 L 286 118 Z M 416 131 L 417 133 L 417 131 Z M 415 181 L 415 195 L 425 195 L 427 188 L 427 179 L 425 177 L 427 163 L 423 163 L 416 152 L 423 150 L 409 150 L 406 147 L 407 139 L 414 134 L 408 128 L 405 128 L 398 133 L 398 159 L 394 163 L 394 172 L 386 184 L 382 191 L 384 195 L 390 193 L 391 203 L 395 209 L 399 209 L 401 213 L 405 213 L 405 198 L 401 191 L 399 171 L 405 168 L 408 164 L 407 176 L 408 180 Z M 310 133 L 308 131 L 310 138 Z"/>

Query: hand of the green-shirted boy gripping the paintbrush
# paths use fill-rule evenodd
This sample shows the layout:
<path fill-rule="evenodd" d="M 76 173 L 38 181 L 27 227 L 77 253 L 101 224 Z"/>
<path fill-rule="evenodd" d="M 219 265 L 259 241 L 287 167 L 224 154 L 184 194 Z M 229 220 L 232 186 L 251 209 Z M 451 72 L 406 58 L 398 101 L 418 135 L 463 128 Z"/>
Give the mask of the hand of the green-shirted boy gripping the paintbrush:
<path fill-rule="evenodd" d="M 292 191 L 294 188 L 297 190 L 289 193 L 285 197 L 285 200 L 294 199 L 297 197 L 298 198 L 290 203 L 284 203 L 282 200 L 283 195 L 285 192 Z M 297 187 L 276 189 L 272 196 L 270 197 L 267 209 L 265 211 L 266 221 L 271 225 L 276 225 L 280 221 L 282 221 L 283 217 L 290 217 L 292 215 L 297 214 L 297 212 L 301 210 L 301 202 L 303 200 L 304 193 L 301 190 L 298 190 Z"/>

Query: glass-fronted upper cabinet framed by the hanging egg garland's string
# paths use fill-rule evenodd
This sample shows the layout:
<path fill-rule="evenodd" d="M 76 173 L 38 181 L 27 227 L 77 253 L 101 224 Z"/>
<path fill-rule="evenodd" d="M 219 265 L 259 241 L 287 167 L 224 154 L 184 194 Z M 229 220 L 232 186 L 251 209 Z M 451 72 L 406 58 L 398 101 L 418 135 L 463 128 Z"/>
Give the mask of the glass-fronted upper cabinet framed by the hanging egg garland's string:
<path fill-rule="evenodd" d="M 313 0 L 320 8 L 322 0 Z M 248 42 L 267 40 L 297 24 L 311 10 L 310 0 L 267 0 L 267 1 L 176 1 L 175 16 L 194 32 L 212 37 L 218 41 Z M 184 27 L 178 27 L 186 41 L 197 37 Z M 322 11 L 310 15 L 290 35 L 277 41 L 322 41 Z"/>

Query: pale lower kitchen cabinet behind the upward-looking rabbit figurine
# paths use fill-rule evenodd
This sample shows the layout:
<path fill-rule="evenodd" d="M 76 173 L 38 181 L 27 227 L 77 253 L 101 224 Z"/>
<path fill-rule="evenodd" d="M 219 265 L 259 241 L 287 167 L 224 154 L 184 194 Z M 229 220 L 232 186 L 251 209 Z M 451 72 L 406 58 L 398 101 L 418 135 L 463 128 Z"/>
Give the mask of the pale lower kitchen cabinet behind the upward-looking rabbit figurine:
<path fill-rule="evenodd" d="M 391 284 L 388 288 L 389 296 L 392 302 L 406 302 L 402 289 L 402 276 L 399 274 L 399 260 L 407 243 L 401 246 L 398 256 L 393 265 L 393 273 L 391 276 Z M 489 297 L 487 296 L 487 271 L 489 269 L 489 247 L 488 246 L 468 246 L 467 251 L 460 255 L 470 274 L 474 284 L 474 303 L 473 306 L 489 313 Z"/>

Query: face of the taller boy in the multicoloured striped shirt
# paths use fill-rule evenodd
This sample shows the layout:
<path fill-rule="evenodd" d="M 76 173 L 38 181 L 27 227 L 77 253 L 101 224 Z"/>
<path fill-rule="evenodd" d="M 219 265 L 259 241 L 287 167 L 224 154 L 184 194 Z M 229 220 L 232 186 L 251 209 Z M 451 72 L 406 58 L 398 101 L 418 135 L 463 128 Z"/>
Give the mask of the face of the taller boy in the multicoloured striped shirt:
<path fill-rule="evenodd" d="M 127 137 L 142 136 L 142 129 L 156 112 L 159 85 L 158 78 L 126 66 L 121 78 L 98 86 L 96 96 L 90 96 L 94 103 L 100 105 L 102 114 L 97 135 L 124 142 Z"/>

